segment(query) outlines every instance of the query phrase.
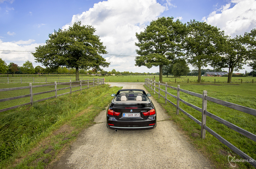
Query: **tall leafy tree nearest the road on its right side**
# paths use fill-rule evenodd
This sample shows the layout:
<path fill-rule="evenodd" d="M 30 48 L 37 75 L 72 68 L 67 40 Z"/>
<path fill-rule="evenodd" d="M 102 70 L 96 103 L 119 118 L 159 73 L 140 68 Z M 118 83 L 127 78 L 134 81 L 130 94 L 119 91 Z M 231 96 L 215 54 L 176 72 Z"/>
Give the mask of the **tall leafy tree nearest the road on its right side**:
<path fill-rule="evenodd" d="M 159 66 L 159 81 L 163 82 L 163 66 L 168 65 L 176 56 L 181 55 L 181 39 L 186 25 L 173 17 L 160 17 L 150 22 L 144 32 L 136 33 L 139 47 L 135 66 Z"/>

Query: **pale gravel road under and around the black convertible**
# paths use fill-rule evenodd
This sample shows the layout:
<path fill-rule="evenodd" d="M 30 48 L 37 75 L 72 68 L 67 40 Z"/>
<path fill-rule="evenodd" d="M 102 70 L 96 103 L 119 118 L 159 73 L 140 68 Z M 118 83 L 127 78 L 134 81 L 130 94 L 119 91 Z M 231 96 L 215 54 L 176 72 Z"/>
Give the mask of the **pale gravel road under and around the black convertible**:
<path fill-rule="evenodd" d="M 144 83 L 109 83 L 123 89 L 144 89 Z M 200 154 L 168 120 L 163 108 L 150 97 L 157 110 L 152 130 L 117 131 L 106 127 L 106 110 L 96 124 L 82 131 L 72 146 L 51 165 L 54 169 L 211 169 Z"/>

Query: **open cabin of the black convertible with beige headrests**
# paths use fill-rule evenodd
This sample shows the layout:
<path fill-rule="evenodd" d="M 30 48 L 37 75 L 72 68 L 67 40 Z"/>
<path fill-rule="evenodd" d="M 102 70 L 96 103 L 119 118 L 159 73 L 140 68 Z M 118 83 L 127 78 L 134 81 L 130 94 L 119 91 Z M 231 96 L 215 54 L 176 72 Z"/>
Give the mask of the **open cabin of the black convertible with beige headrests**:
<path fill-rule="evenodd" d="M 149 99 L 146 97 L 142 91 L 134 92 L 120 92 L 114 100 L 114 102 L 149 102 Z"/>

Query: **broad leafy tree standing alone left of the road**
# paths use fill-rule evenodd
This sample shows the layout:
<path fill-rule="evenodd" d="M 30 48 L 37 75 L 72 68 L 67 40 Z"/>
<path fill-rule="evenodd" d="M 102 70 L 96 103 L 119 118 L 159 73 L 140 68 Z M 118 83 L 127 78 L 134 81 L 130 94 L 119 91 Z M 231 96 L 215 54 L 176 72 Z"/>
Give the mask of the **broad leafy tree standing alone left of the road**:
<path fill-rule="evenodd" d="M 46 67 L 75 68 L 76 80 L 79 80 L 79 69 L 99 69 L 99 66 L 108 67 L 110 64 L 101 56 L 107 53 L 106 46 L 100 42 L 99 36 L 94 35 L 95 31 L 92 26 L 75 22 L 68 30 L 54 30 L 46 45 L 36 47 L 32 54 Z"/>

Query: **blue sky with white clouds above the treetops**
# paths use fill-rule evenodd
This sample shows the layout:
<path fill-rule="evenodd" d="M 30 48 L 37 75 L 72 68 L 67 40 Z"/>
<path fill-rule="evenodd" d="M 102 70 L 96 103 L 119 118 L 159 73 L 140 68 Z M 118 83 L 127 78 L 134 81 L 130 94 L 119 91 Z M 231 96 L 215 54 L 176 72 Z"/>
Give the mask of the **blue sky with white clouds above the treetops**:
<path fill-rule="evenodd" d="M 136 56 L 135 33 L 143 31 L 150 21 L 161 16 L 173 16 L 183 23 L 205 21 L 224 30 L 231 37 L 256 28 L 255 0 L 0 0 L 0 58 L 6 63 L 22 66 L 30 52 L 44 45 L 54 29 L 64 29 L 74 22 L 96 28 L 96 34 L 109 54 Z M 110 62 L 106 71 L 159 72 L 134 66 L 133 57 L 104 55 Z M 250 67 L 244 66 L 251 71 Z M 210 68 L 210 67 L 208 67 Z M 195 68 L 190 67 L 190 70 Z"/>

